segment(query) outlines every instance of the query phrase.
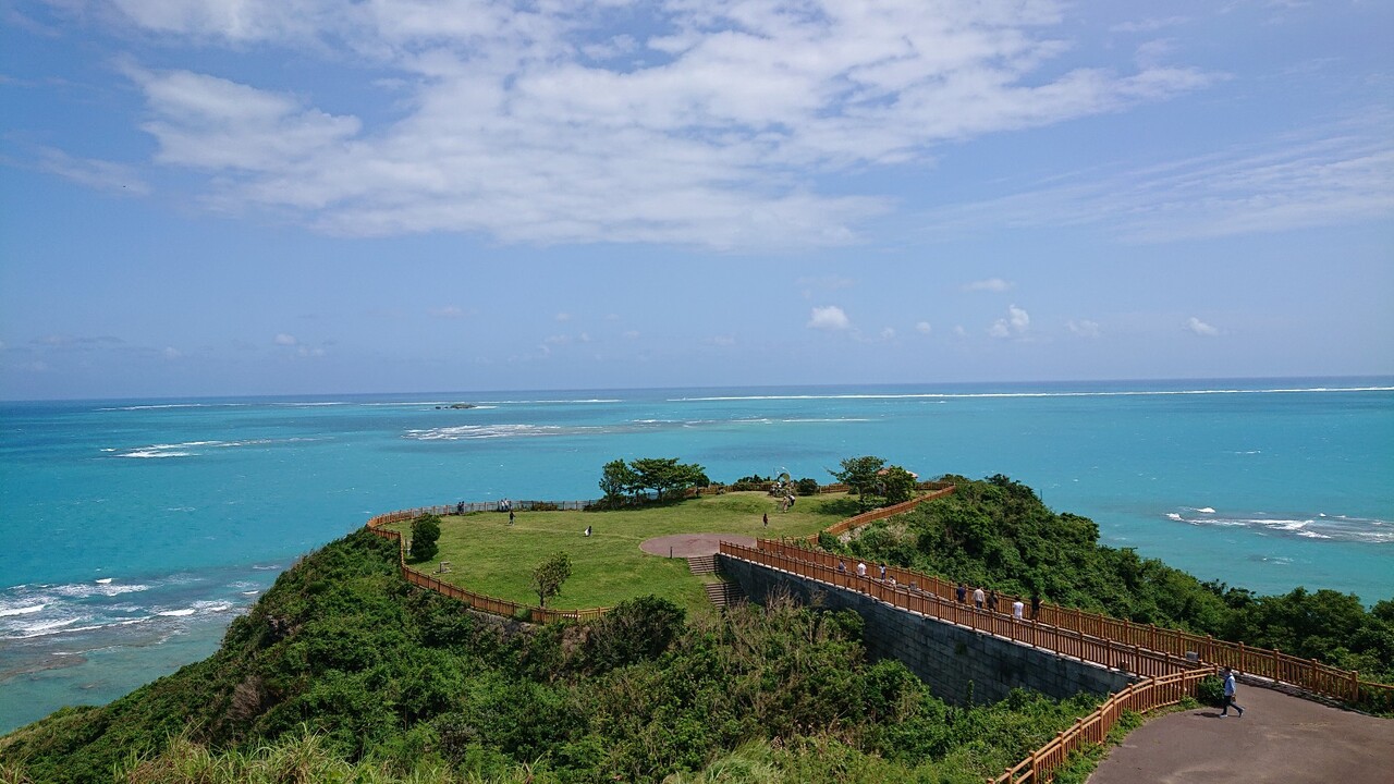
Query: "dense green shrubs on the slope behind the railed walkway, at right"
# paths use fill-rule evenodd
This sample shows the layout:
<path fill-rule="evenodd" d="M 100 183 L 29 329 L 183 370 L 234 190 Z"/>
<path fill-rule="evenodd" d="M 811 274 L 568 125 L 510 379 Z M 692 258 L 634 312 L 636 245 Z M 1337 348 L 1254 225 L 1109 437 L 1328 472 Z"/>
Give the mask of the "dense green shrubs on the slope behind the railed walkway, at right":
<path fill-rule="evenodd" d="M 821 544 L 942 578 L 1118 618 L 1189 629 L 1317 658 L 1394 682 L 1394 600 L 1366 610 L 1355 594 L 1295 589 L 1256 596 L 1203 583 L 1132 548 L 1098 544 L 1087 518 L 1055 513 L 1004 476 L 944 477 L 953 495 L 874 523 L 850 543 Z"/>

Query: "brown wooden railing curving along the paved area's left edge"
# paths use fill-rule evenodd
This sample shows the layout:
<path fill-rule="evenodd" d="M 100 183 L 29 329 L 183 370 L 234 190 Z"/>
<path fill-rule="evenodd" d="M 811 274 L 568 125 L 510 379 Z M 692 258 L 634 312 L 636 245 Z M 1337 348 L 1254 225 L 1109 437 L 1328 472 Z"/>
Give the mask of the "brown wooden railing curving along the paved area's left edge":
<path fill-rule="evenodd" d="M 1006 769 L 997 778 L 988 778 L 987 783 L 1039 784 L 1050 781 L 1055 770 L 1069 759 L 1069 755 L 1086 746 L 1103 745 L 1125 711 L 1146 713 L 1177 704 L 1188 696 L 1195 698 L 1200 681 L 1216 672 L 1217 668 L 1211 665 L 1132 684 L 1108 698 L 1094 713 L 1076 718 L 1069 730 L 1057 734 L 1044 746 L 1032 752 L 1032 756 L 1016 763 L 1016 767 Z"/>

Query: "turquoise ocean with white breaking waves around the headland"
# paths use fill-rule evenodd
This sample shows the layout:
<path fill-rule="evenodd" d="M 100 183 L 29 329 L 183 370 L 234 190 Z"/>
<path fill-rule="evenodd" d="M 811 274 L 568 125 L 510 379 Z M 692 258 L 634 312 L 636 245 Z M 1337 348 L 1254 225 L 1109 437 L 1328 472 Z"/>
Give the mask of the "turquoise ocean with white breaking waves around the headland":
<path fill-rule="evenodd" d="M 208 656 L 378 512 L 594 498 L 615 458 L 829 481 L 856 455 L 1008 474 L 1202 579 L 1394 597 L 1394 378 L 0 403 L 0 731 Z"/>

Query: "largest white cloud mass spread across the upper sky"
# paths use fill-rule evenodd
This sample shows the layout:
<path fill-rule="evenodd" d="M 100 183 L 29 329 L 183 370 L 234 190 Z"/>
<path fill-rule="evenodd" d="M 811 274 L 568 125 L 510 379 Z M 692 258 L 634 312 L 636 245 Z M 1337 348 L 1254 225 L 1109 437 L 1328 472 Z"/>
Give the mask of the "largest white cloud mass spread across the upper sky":
<path fill-rule="evenodd" d="M 322 109 L 294 71 L 265 89 L 128 67 L 156 162 L 205 174 L 209 206 L 350 236 L 843 244 L 892 201 L 824 193 L 827 174 L 1210 81 L 1062 63 L 1048 0 L 672 1 L 645 6 L 644 39 L 609 3 L 112 1 L 171 50 L 282 45 L 358 78 Z"/>

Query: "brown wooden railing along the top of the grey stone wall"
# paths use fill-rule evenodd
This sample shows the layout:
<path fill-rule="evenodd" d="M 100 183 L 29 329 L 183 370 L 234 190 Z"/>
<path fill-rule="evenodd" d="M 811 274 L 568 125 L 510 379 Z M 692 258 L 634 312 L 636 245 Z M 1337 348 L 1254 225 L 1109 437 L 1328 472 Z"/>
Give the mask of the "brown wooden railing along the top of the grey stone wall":
<path fill-rule="evenodd" d="M 721 543 L 721 552 L 722 555 L 730 555 L 751 564 L 818 580 L 834 587 L 863 593 L 878 601 L 884 601 L 894 607 L 926 615 L 928 618 L 956 624 L 959 626 L 967 626 L 970 629 L 986 632 L 1012 642 L 1041 647 L 1059 656 L 1068 656 L 1090 664 L 1098 664 L 1110 670 L 1122 670 L 1135 675 L 1154 677 L 1185 672 L 1196 667 L 1196 663 L 1188 661 L 1182 657 L 1157 653 L 1136 644 L 1128 646 L 1114 640 L 1094 638 L 1073 629 L 1061 629 L 1047 624 L 1040 624 L 1037 621 L 1018 621 L 1005 612 L 979 610 L 972 604 L 962 604 L 935 593 L 920 590 L 917 585 L 916 587 L 910 587 L 913 580 L 901 582 L 901 576 L 896 576 L 895 583 L 892 583 L 889 579 L 894 576 L 891 569 L 887 569 L 887 579 L 881 580 L 870 573 L 867 576 L 860 576 L 856 573 L 855 568 L 845 566 L 843 569 L 838 569 L 838 558 L 831 557 L 829 559 L 827 558 L 829 555 L 827 552 L 793 548 L 790 545 L 779 545 L 786 548 L 786 551 L 776 552 L 774 548 L 760 548 L 764 545 L 779 545 L 779 543 L 760 541 L 757 543 L 757 547 L 743 547 L 723 541 Z M 790 551 L 797 554 L 797 557 L 786 554 Z M 896 575 L 907 578 L 913 573 L 906 572 L 905 569 L 898 569 Z"/>

